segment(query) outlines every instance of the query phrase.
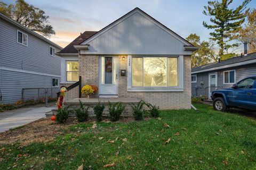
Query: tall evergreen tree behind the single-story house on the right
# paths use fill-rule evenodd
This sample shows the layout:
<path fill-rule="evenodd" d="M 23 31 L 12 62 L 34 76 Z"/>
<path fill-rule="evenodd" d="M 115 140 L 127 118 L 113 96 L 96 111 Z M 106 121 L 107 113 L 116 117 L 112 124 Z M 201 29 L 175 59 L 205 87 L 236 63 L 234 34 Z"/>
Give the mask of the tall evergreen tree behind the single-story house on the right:
<path fill-rule="evenodd" d="M 209 1 L 208 5 L 204 6 L 203 14 L 211 16 L 210 21 L 213 24 L 203 21 L 203 25 L 207 29 L 214 29 L 210 36 L 219 45 L 220 56 L 224 54 L 224 50 L 228 51 L 229 48 L 238 46 L 238 44 L 228 44 L 228 42 L 232 40 L 231 35 L 241 29 L 245 20 L 243 11 L 251 0 L 245 0 L 235 9 L 229 7 L 232 2 L 233 0 Z"/>

